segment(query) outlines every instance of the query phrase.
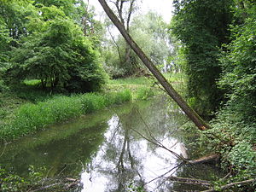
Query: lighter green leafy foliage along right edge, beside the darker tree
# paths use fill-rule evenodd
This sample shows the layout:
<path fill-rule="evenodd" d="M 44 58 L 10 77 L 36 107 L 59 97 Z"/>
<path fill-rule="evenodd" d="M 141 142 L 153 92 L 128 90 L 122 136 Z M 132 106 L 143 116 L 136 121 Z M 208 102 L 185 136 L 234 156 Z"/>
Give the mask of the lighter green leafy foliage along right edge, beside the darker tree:
<path fill-rule="evenodd" d="M 237 172 L 255 177 L 256 3 L 244 1 L 244 5 L 242 9 L 234 8 L 239 22 L 231 26 L 232 42 L 224 47 L 220 57 L 223 73 L 218 84 L 227 90 L 228 102 L 218 114 L 215 126 L 225 129 L 236 144 L 226 159 L 236 166 Z"/>

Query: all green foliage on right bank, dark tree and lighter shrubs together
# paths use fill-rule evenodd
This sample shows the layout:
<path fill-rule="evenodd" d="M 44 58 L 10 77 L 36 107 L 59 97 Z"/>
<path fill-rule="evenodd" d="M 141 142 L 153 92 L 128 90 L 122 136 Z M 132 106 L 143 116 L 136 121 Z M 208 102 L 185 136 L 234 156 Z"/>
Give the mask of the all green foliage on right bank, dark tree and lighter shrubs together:
<path fill-rule="evenodd" d="M 203 146 L 207 143 L 208 153 L 222 154 L 231 182 L 255 177 L 256 3 L 205 0 L 175 5 L 172 30 L 185 49 L 189 96 L 205 113 L 220 108 L 212 129 L 201 134 Z"/>

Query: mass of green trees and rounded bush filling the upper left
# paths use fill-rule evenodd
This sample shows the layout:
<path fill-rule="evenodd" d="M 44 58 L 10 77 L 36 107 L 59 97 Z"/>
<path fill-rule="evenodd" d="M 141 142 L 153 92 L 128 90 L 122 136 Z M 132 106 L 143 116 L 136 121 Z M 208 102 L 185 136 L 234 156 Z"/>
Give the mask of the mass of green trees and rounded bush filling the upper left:
<path fill-rule="evenodd" d="M 105 74 L 96 43 L 90 36 L 84 37 L 81 28 L 79 17 L 84 13 L 79 6 L 83 2 L 24 3 L 26 6 L 1 6 L 1 29 L 9 32 L 1 36 L 5 80 L 19 84 L 25 79 L 40 79 L 43 88 L 69 92 L 98 90 Z"/>

